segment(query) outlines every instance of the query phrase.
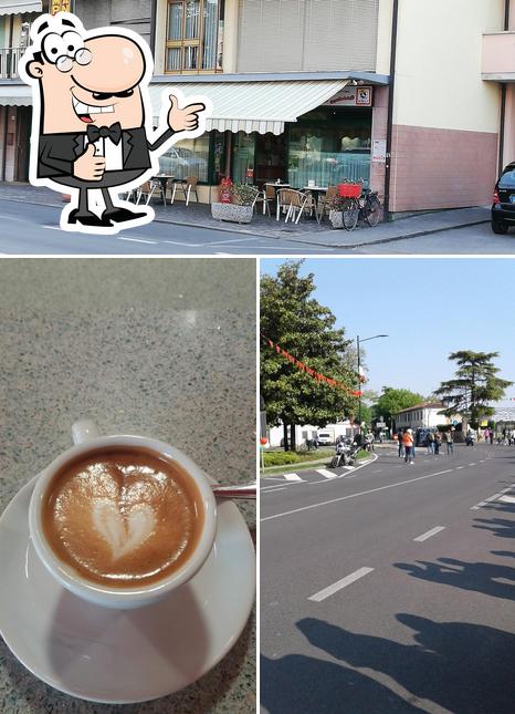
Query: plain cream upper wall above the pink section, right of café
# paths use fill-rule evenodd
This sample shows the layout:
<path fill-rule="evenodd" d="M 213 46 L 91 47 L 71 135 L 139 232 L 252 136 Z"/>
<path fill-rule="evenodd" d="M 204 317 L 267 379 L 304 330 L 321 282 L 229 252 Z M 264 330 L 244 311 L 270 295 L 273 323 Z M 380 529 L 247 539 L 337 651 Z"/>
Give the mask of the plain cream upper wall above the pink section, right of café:
<path fill-rule="evenodd" d="M 483 82 L 483 33 L 503 0 L 399 0 L 395 124 L 497 132 L 500 90 Z"/>

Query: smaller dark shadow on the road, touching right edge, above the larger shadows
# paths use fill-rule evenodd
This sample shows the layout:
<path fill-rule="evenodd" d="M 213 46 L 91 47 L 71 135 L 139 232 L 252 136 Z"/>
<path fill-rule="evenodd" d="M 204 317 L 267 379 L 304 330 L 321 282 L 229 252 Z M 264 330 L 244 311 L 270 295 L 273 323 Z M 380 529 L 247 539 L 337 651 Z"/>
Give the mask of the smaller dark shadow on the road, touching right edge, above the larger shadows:
<path fill-rule="evenodd" d="M 461 590 L 474 590 L 493 598 L 515 600 L 515 568 L 508 566 L 466 562 L 454 558 L 439 558 L 437 562 L 417 560 L 413 563 L 396 562 L 393 565 L 420 580 L 440 582 Z M 514 584 L 497 582 L 496 579 L 509 580 Z"/>

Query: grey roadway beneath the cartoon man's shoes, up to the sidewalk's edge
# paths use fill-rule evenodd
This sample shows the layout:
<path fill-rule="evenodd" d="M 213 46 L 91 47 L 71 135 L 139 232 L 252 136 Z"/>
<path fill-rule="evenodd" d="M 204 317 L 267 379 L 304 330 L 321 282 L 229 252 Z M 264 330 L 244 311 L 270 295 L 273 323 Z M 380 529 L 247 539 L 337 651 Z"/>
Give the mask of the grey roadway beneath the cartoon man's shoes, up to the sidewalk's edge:
<path fill-rule="evenodd" d="M 0 256 L 10 255 L 281 255 L 333 252 L 281 238 L 154 221 L 117 236 L 61 230 L 61 208 L 0 199 Z"/>

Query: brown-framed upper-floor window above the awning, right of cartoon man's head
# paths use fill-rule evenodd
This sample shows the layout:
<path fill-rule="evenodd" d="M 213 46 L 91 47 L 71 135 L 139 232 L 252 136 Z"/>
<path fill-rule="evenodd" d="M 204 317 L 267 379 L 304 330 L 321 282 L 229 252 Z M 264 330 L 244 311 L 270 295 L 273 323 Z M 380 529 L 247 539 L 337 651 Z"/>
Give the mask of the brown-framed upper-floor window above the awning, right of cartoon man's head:
<path fill-rule="evenodd" d="M 169 0 L 167 72 L 222 69 L 224 0 Z"/>

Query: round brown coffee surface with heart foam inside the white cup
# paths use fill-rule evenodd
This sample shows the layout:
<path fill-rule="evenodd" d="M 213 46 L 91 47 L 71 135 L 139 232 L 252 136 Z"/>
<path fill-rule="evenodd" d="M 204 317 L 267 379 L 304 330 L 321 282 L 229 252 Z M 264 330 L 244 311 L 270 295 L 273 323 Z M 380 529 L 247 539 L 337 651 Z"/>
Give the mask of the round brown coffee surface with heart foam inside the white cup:
<path fill-rule="evenodd" d="M 200 493 L 176 462 L 143 447 L 96 449 L 62 467 L 45 494 L 43 531 L 82 577 L 135 587 L 178 570 L 203 524 Z"/>

